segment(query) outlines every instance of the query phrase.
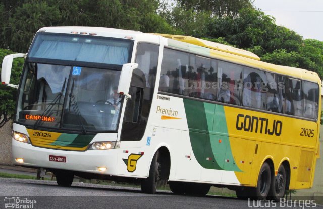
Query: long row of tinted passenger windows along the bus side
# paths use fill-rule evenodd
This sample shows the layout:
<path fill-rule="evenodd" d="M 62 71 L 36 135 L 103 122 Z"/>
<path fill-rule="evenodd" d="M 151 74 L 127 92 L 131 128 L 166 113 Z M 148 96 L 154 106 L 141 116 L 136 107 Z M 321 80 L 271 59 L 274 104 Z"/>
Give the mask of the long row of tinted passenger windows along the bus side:
<path fill-rule="evenodd" d="M 315 83 L 167 48 L 159 91 L 310 119 L 318 115 Z"/>

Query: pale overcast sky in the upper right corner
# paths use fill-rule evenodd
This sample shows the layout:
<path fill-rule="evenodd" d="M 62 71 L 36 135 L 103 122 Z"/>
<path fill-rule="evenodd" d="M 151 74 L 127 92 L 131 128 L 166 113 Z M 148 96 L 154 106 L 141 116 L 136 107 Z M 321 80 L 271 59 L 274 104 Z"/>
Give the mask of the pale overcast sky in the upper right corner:
<path fill-rule="evenodd" d="M 255 0 L 253 5 L 304 39 L 323 41 L 323 0 Z"/>

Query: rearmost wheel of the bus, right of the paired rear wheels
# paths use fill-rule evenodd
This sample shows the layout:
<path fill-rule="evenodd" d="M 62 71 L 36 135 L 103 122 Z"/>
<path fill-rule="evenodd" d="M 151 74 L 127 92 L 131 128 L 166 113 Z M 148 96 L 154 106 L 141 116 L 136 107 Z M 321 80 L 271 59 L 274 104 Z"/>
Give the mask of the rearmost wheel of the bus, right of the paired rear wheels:
<path fill-rule="evenodd" d="M 269 197 L 274 199 L 277 202 L 280 202 L 280 199 L 285 195 L 286 189 L 286 170 L 284 165 L 281 165 L 278 168 L 277 176 L 273 175 L 272 182 L 271 182 L 271 189 L 269 192 Z"/>

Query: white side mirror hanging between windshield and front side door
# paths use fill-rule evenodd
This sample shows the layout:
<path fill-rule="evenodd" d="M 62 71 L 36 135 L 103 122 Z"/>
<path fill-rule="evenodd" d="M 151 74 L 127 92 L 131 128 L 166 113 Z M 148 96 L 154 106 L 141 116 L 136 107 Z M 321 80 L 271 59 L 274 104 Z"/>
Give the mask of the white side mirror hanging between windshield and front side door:
<path fill-rule="evenodd" d="M 134 69 L 138 67 L 136 63 L 128 63 L 124 64 L 121 69 L 119 86 L 118 86 L 118 94 L 125 95 L 127 98 L 131 98 L 129 95 L 129 88 L 132 78 L 132 72 Z"/>

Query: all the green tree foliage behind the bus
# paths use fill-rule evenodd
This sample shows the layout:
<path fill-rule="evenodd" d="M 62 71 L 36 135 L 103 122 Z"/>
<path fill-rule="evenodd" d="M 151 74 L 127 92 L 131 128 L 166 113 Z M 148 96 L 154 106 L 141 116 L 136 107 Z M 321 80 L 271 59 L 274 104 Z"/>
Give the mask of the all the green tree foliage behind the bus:
<path fill-rule="evenodd" d="M 1 0 L 0 62 L 13 51 L 27 52 L 35 32 L 45 26 L 189 35 L 323 76 L 323 42 L 304 40 L 276 25 L 275 18 L 254 8 L 253 0 Z M 18 84 L 22 66 L 23 60 L 15 59 L 11 83 Z M 0 127 L 14 112 L 15 95 L 15 90 L 0 86 Z"/>

